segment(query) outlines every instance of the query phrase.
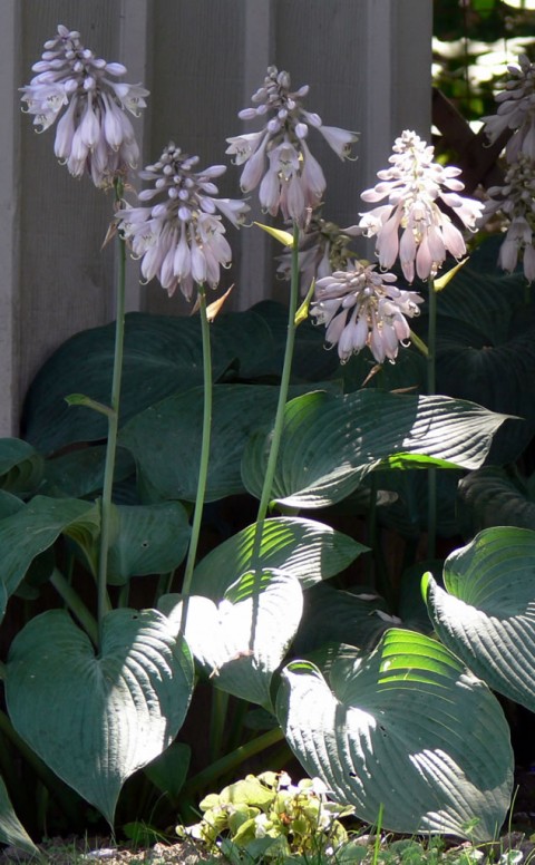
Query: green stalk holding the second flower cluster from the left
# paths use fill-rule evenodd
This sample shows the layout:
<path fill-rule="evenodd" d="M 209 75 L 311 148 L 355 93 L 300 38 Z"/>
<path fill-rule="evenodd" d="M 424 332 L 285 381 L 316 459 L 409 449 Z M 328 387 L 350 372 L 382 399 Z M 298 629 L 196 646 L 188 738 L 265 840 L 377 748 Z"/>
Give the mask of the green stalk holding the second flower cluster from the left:
<path fill-rule="evenodd" d="M 187 551 L 186 566 L 182 593 L 186 597 L 192 587 L 193 568 L 197 555 L 201 523 L 203 519 L 204 498 L 206 495 L 206 482 L 208 477 L 210 440 L 212 435 L 212 352 L 210 346 L 210 321 L 206 314 L 206 293 L 204 285 L 198 286 L 201 330 L 203 336 L 203 373 L 204 373 L 204 409 L 203 409 L 203 437 L 201 443 L 201 460 L 198 466 L 197 493 L 195 496 L 195 509 L 193 512 L 192 536 Z M 183 622 L 184 626 L 184 622 Z"/>

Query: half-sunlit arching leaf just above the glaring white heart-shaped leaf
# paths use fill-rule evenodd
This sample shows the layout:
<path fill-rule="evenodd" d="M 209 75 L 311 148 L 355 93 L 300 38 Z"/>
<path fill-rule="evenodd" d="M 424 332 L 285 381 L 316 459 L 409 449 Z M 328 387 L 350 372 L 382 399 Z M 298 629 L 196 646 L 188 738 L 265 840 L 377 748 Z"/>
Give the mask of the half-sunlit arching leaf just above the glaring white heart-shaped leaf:
<path fill-rule="evenodd" d="M 243 528 L 201 560 L 192 591 L 214 601 L 223 597 L 239 574 L 251 567 L 256 524 Z M 343 571 L 368 547 L 313 519 L 273 517 L 262 532 L 259 562 L 282 568 L 300 580 L 303 589 Z"/>

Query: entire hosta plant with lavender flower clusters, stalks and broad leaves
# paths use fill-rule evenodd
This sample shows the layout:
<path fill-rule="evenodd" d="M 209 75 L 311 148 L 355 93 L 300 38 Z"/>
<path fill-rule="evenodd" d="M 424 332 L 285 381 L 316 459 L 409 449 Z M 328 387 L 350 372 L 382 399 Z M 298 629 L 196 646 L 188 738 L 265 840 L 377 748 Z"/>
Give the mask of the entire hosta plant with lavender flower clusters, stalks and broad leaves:
<path fill-rule="evenodd" d="M 290 261 L 289 303 L 222 312 L 211 292 L 232 259 L 225 223 L 247 212 L 220 197 L 224 166 L 201 168 L 171 142 L 142 172 L 138 201 L 125 201 L 137 149 L 124 111 L 143 108 L 146 90 L 116 82 L 124 67 L 64 26 L 35 71 L 23 100 L 38 126 L 57 122 L 58 158 L 115 189 L 118 314 L 58 349 L 28 393 L 25 438 L 0 441 L 0 838 L 33 849 L 22 822 L 38 837 L 47 805 L 70 828 L 96 813 L 132 823 L 162 801 L 187 814 L 268 748 L 278 750 L 265 760 L 295 756 L 360 819 L 493 837 L 513 752 L 490 688 L 529 701 L 535 593 L 527 565 L 521 581 L 510 572 L 529 542 L 507 536 L 487 568 L 488 544 L 474 541 L 467 597 L 449 575 L 454 553 L 447 591 L 426 583 L 430 619 L 419 594 L 422 572 L 440 571 L 437 538 L 459 531 L 459 478 L 469 485 L 489 454 L 518 459 L 533 424 L 521 386 L 531 331 L 509 340 L 523 278 L 438 275 L 448 252 L 465 250 L 438 202 L 468 227 L 480 206 L 406 132 L 364 196 L 389 203 L 341 230 L 342 245 L 332 225 L 322 234 L 309 221 L 325 188 L 309 137 L 344 159 L 357 135 L 325 126 L 304 107 L 308 87 L 292 90 L 270 67 L 241 115 L 264 126 L 228 138 L 227 153 L 243 191 L 259 187 L 285 221 L 268 230 Z M 380 266 L 347 249 L 363 231 L 377 236 Z M 145 280 L 182 291 L 198 317 L 125 315 L 127 247 Z M 311 292 L 299 300 L 311 261 L 324 337 L 307 321 Z M 416 276 L 428 279 L 426 298 Z M 475 334 L 480 351 L 461 375 L 459 346 Z M 382 526 L 403 540 L 405 568 L 385 555 Z M 422 533 L 426 564 L 411 550 Z M 308 837 L 307 820 L 321 823 L 317 783 L 291 790 L 292 804 L 280 776 L 262 777 L 254 784 L 276 808 L 305 800 L 291 825 Z M 23 791 L 36 784 L 32 811 Z M 231 833 L 252 842 L 260 823 L 271 837 L 274 818 L 242 805 L 223 809 Z"/>

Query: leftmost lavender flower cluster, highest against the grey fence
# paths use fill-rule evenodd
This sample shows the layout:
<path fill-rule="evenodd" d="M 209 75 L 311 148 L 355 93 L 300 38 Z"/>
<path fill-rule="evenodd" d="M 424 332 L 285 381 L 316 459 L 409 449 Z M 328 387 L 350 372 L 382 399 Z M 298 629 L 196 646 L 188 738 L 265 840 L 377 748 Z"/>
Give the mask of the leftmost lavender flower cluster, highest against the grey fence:
<path fill-rule="evenodd" d="M 138 116 L 148 90 L 113 80 L 126 74 L 121 64 L 96 57 L 77 30 L 59 25 L 32 70 L 37 75 L 21 88 L 22 101 L 38 132 L 58 120 L 55 153 L 70 174 L 88 171 L 96 186 L 105 186 L 137 164 L 139 148 L 126 113 Z"/>

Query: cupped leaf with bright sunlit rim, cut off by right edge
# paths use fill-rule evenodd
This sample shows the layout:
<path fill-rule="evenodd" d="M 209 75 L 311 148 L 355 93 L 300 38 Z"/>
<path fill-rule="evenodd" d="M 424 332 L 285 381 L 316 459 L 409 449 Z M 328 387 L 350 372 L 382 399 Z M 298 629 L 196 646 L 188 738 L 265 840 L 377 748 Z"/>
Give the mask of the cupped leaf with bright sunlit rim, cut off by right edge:
<path fill-rule="evenodd" d="M 425 580 L 442 642 L 496 691 L 535 710 L 535 532 L 480 532 Z"/>

